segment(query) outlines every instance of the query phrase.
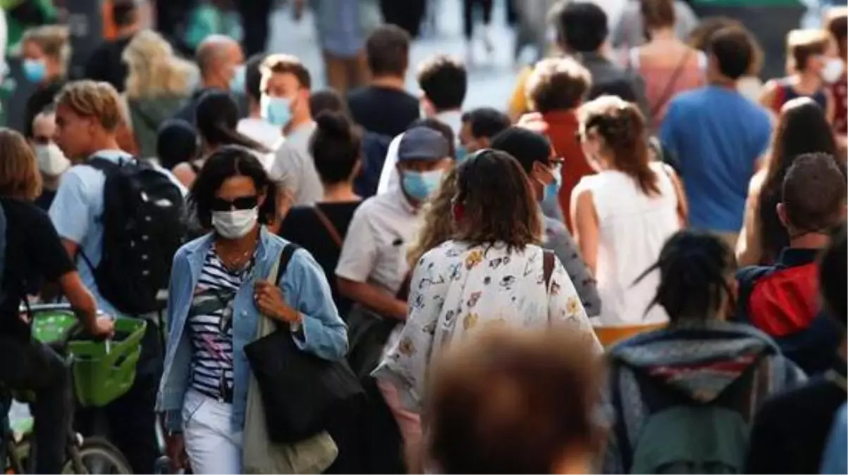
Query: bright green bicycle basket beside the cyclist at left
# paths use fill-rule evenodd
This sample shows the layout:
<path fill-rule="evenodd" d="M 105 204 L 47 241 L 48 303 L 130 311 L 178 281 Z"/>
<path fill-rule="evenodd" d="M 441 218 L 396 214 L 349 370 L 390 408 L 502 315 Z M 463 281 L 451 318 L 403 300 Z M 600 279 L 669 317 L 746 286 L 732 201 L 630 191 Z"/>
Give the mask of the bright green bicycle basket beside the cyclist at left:
<path fill-rule="evenodd" d="M 36 312 L 32 335 L 42 343 L 55 343 L 73 328 L 72 312 Z M 83 407 L 103 407 L 125 395 L 136 379 L 147 322 L 139 318 L 116 318 L 114 339 L 70 340 L 71 372 L 76 400 Z"/>

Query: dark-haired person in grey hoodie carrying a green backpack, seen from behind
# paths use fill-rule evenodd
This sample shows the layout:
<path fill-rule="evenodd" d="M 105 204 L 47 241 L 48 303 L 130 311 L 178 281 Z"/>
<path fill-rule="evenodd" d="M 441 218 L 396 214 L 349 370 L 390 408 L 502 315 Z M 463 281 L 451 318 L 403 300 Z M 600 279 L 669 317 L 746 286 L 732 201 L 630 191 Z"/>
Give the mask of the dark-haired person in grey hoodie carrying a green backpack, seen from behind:
<path fill-rule="evenodd" d="M 756 411 L 804 380 L 773 340 L 726 321 L 735 269 L 719 237 L 685 230 L 640 278 L 660 274 L 650 305 L 669 323 L 611 350 L 604 473 L 742 473 Z"/>

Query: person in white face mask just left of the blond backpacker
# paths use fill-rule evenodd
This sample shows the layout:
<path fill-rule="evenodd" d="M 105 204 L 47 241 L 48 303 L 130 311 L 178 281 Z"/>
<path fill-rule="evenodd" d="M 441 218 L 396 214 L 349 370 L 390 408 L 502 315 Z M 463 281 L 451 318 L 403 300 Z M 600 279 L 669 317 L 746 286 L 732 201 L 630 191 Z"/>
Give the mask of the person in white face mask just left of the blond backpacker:
<path fill-rule="evenodd" d="M 50 209 L 59 189 L 59 179 L 70 168 L 70 160 L 53 141 L 55 130 L 56 117 L 50 109 L 39 113 L 32 121 L 31 143 L 36 152 L 38 171 L 42 174 L 42 194 L 36 198 L 36 206 L 44 211 Z"/>

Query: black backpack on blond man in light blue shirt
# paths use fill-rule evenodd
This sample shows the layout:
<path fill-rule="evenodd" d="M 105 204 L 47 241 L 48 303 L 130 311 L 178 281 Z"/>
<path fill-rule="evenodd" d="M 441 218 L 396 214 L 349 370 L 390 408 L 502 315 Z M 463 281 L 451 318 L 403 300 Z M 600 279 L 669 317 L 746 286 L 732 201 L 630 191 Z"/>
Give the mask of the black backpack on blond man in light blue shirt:
<path fill-rule="evenodd" d="M 114 163 L 93 157 L 86 165 L 106 175 L 103 186 L 103 257 L 92 268 L 98 290 L 121 313 L 159 309 L 176 250 L 185 242 L 185 202 L 180 189 L 153 165 L 135 158 Z"/>

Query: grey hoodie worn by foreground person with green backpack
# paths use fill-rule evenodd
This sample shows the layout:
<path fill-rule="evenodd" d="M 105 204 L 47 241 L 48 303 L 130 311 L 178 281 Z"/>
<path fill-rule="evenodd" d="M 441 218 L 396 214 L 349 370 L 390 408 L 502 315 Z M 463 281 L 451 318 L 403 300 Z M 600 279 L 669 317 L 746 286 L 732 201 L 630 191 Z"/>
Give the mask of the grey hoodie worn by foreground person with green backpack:
<path fill-rule="evenodd" d="M 737 323 L 678 323 L 625 340 L 610 353 L 605 400 L 613 421 L 603 473 L 630 472 L 639 434 L 656 411 L 717 403 L 750 423 L 768 396 L 804 380 L 766 334 Z"/>

